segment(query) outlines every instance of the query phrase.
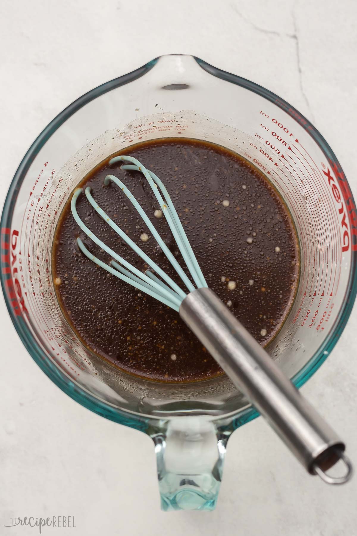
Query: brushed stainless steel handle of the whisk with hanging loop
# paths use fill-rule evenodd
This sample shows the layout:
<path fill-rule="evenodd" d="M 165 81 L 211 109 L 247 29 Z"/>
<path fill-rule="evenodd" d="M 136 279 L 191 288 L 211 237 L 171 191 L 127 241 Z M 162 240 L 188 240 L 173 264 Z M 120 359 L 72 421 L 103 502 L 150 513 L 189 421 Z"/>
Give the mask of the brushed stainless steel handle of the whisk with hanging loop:
<path fill-rule="evenodd" d="M 331 484 L 350 479 L 345 444 L 211 289 L 189 293 L 179 314 L 310 474 Z M 339 459 L 346 474 L 330 477 Z"/>

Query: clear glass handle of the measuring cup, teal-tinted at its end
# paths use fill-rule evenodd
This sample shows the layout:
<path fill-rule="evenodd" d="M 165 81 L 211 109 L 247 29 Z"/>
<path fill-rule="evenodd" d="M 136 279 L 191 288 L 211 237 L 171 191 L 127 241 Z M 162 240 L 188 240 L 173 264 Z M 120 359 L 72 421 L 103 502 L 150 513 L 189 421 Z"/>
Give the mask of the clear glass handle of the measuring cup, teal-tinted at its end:
<path fill-rule="evenodd" d="M 162 510 L 214 510 L 227 441 L 214 424 L 181 416 L 153 440 Z"/>

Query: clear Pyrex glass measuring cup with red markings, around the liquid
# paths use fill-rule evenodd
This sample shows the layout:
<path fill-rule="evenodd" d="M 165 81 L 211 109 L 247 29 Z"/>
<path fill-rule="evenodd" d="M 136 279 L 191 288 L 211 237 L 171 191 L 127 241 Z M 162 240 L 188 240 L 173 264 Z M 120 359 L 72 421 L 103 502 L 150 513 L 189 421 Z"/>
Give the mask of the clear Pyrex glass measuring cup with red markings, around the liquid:
<path fill-rule="evenodd" d="M 257 416 L 227 377 L 187 385 L 146 382 L 83 347 L 55 299 L 51 247 L 71 191 L 109 154 L 147 139 L 207 139 L 254 163 L 297 226 L 301 277 L 269 352 L 297 386 L 326 359 L 356 294 L 357 217 L 339 163 L 297 110 L 248 80 L 192 56 L 163 56 L 83 95 L 22 160 L 1 221 L 2 285 L 34 360 L 72 398 L 149 434 L 162 507 L 215 507 L 227 440 Z"/>

